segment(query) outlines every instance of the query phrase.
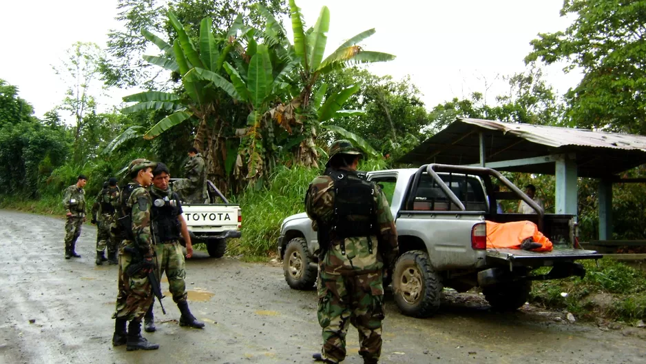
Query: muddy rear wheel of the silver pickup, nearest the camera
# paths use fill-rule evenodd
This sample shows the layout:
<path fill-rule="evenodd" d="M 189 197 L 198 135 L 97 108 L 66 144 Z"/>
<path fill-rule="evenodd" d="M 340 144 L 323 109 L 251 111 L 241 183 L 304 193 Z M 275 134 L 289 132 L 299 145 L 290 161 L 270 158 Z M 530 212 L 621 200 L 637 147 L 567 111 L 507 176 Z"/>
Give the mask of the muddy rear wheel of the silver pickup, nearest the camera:
<path fill-rule="evenodd" d="M 442 281 L 428 261 L 428 254 L 411 250 L 399 256 L 393 272 L 397 307 L 406 316 L 428 317 L 439 309 Z"/>

